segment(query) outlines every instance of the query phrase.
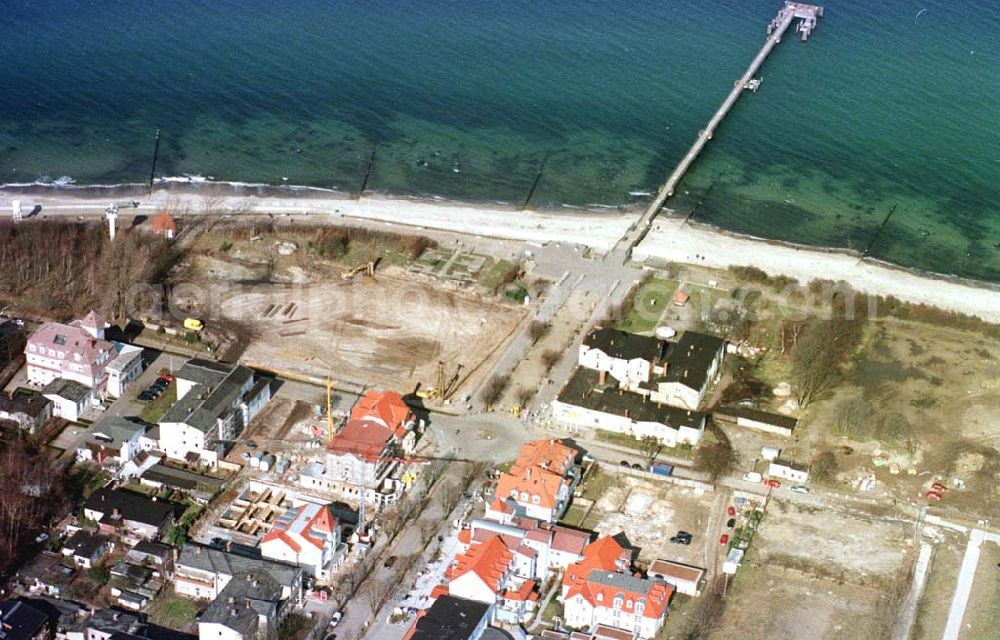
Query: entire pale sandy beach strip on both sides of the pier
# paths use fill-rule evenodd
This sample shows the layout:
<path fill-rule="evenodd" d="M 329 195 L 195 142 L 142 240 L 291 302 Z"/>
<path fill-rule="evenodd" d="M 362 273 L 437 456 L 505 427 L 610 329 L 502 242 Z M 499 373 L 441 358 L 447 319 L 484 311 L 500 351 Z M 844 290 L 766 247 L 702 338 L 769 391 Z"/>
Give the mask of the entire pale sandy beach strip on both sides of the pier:
<path fill-rule="evenodd" d="M 248 185 L 210 181 L 158 181 L 152 195 L 145 185 L 0 186 L 0 216 L 21 199 L 27 213 L 101 215 L 109 200 L 140 202 L 137 214 L 173 209 L 179 215 L 209 211 L 221 215 L 281 214 L 358 218 L 414 229 L 433 229 L 534 244 L 561 242 L 610 252 L 641 217 L 640 211 L 560 209 L 520 210 L 498 203 L 366 194 L 360 200 L 319 187 Z M 757 238 L 668 217 L 665 210 L 633 250 L 637 262 L 682 262 L 726 269 L 755 266 L 803 284 L 813 279 L 843 280 L 858 291 L 894 296 L 1000 322 L 1000 284 L 922 272 L 836 247 L 799 245 Z"/>

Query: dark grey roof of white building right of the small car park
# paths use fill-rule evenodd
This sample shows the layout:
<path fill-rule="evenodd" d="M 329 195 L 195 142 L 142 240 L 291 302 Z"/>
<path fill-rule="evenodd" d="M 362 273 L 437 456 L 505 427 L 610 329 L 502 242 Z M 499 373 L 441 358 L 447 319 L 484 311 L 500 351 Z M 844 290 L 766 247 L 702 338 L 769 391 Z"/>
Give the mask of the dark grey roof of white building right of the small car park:
<path fill-rule="evenodd" d="M 160 418 L 160 423 L 177 422 L 208 433 L 239 400 L 243 386 L 253 378 L 253 370 L 238 364 L 190 360 L 177 374 L 195 383 Z"/>

